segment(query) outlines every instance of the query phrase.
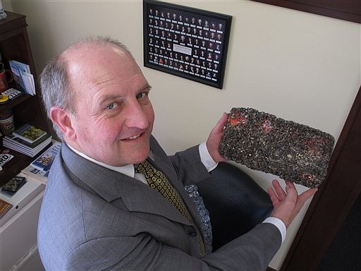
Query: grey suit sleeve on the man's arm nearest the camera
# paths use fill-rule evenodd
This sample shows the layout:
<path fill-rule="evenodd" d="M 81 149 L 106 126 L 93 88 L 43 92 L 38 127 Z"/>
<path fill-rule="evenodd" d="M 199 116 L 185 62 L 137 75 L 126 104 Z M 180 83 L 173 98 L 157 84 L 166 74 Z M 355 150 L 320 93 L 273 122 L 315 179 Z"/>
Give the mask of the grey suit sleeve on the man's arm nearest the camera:
<path fill-rule="evenodd" d="M 281 245 L 278 229 L 259 224 L 204 258 L 166 246 L 148 234 L 89 241 L 68 254 L 64 270 L 266 270 Z M 135 256 L 136 255 L 136 256 Z"/>

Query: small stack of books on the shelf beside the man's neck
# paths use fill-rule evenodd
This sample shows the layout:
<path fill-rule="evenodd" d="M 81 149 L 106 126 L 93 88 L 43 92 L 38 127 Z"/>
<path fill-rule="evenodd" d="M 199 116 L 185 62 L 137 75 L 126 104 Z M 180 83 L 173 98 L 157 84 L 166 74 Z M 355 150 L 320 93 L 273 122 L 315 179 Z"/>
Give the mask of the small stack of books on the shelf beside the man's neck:
<path fill-rule="evenodd" d="M 40 128 L 24 124 L 3 138 L 3 146 L 34 157 L 51 143 L 51 135 Z"/>

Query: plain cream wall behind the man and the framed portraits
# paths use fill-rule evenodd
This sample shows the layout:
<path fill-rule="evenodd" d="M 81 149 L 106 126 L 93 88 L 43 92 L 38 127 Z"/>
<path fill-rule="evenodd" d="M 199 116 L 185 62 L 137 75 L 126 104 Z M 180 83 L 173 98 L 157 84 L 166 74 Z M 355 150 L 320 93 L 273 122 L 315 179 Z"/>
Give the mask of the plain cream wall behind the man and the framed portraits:
<path fill-rule="evenodd" d="M 254 107 L 338 138 L 360 87 L 360 25 L 253 1 L 173 1 L 233 16 L 224 89 L 142 67 L 153 86 L 154 135 L 171 154 L 207 138 L 231 107 Z M 4 1 L 27 15 L 40 73 L 86 35 L 111 35 L 142 66 L 142 1 Z M 262 187 L 274 176 L 245 169 Z M 303 191 L 302 187 L 298 187 Z M 271 267 L 279 269 L 306 208 Z"/>

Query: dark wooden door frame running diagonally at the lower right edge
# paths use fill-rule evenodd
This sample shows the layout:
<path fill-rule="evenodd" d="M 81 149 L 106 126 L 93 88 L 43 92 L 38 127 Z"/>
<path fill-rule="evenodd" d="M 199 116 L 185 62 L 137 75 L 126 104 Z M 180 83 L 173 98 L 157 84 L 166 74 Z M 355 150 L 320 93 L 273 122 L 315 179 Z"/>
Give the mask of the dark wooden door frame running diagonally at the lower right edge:
<path fill-rule="evenodd" d="M 331 117 L 331 116 L 330 116 Z M 361 87 L 281 271 L 316 270 L 361 193 Z"/>

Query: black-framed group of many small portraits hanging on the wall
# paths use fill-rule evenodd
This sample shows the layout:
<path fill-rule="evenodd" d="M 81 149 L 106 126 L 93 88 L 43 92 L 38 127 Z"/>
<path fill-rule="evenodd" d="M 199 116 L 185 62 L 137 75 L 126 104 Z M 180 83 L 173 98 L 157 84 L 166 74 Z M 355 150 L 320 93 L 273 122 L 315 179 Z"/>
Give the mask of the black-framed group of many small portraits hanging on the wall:
<path fill-rule="evenodd" d="M 232 16 L 143 0 L 144 66 L 223 88 Z"/>

